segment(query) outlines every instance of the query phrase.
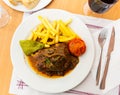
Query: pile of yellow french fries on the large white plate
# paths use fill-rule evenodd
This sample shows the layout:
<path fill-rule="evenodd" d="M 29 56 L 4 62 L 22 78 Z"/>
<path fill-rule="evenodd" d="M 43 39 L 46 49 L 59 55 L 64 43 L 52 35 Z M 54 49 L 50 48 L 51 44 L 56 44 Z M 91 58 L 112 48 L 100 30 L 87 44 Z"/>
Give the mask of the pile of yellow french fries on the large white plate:
<path fill-rule="evenodd" d="M 72 19 L 66 22 L 62 20 L 50 22 L 47 18 L 43 18 L 42 16 L 38 16 L 38 19 L 41 21 L 41 24 L 32 30 L 29 39 L 34 41 L 39 39 L 40 42 L 45 44 L 45 47 L 50 47 L 50 45 L 59 42 L 68 42 L 77 36 L 69 27 Z"/>

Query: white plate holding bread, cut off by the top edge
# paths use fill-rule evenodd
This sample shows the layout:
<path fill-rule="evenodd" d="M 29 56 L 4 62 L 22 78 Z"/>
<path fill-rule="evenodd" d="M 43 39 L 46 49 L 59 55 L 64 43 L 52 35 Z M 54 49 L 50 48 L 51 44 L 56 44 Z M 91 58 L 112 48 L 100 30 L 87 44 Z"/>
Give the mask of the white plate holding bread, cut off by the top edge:
<path fill-rule="evenodd" d="M 40 0 L 40 2 L 38 3 L 38 5 L 33 8 L 33 9 L 27 9 L 25 6 L 23 6 L 22 4 L 14 6 L 12 5 L 9 0 L 3 0 L 9 7 L 17 10 L 17 11 L 22 11 L 22 12 L 33 12 L 33 11 L 37 11 L 40 10 L 42 8 L 44 8 L 45 6 L 47 6 L 52 0 Z"/>

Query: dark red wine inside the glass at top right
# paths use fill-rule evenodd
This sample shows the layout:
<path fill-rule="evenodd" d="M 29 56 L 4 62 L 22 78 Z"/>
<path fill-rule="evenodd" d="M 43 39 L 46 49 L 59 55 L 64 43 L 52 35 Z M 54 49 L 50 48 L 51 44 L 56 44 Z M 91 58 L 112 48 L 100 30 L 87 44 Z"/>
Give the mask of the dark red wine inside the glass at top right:
<path fill-rule="evenodd" d="M 104 13 L 117 1 L 118 0 L 88 0 L 88 4 L 92 11 L 96 13 Z"/>

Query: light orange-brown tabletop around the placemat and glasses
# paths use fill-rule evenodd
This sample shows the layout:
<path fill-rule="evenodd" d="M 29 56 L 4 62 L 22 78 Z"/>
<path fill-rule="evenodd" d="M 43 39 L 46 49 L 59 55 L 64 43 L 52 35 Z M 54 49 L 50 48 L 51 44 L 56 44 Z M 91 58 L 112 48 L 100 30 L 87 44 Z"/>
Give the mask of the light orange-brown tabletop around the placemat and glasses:
<path fill-rule="evenodd" d="M 83 14 L 83 6 L 86 2 L 87 0 L 53 0 L 46 8 L 57 8 L 72 13 Z M 10 95 L 9 86 L 13 69 L 10 59 L 10 43 L 13 33 L 22 20 L 23 13 L 11 9 L 2 0 L 0 0 L 0 4 L 8 10 L 11 16 L 9 23 L 0 29 L 0 95 Z M 120 18 L 119 5 L 120 1 L 104 14 L 90 13 L 89 16 L 117 20 Z"/>

